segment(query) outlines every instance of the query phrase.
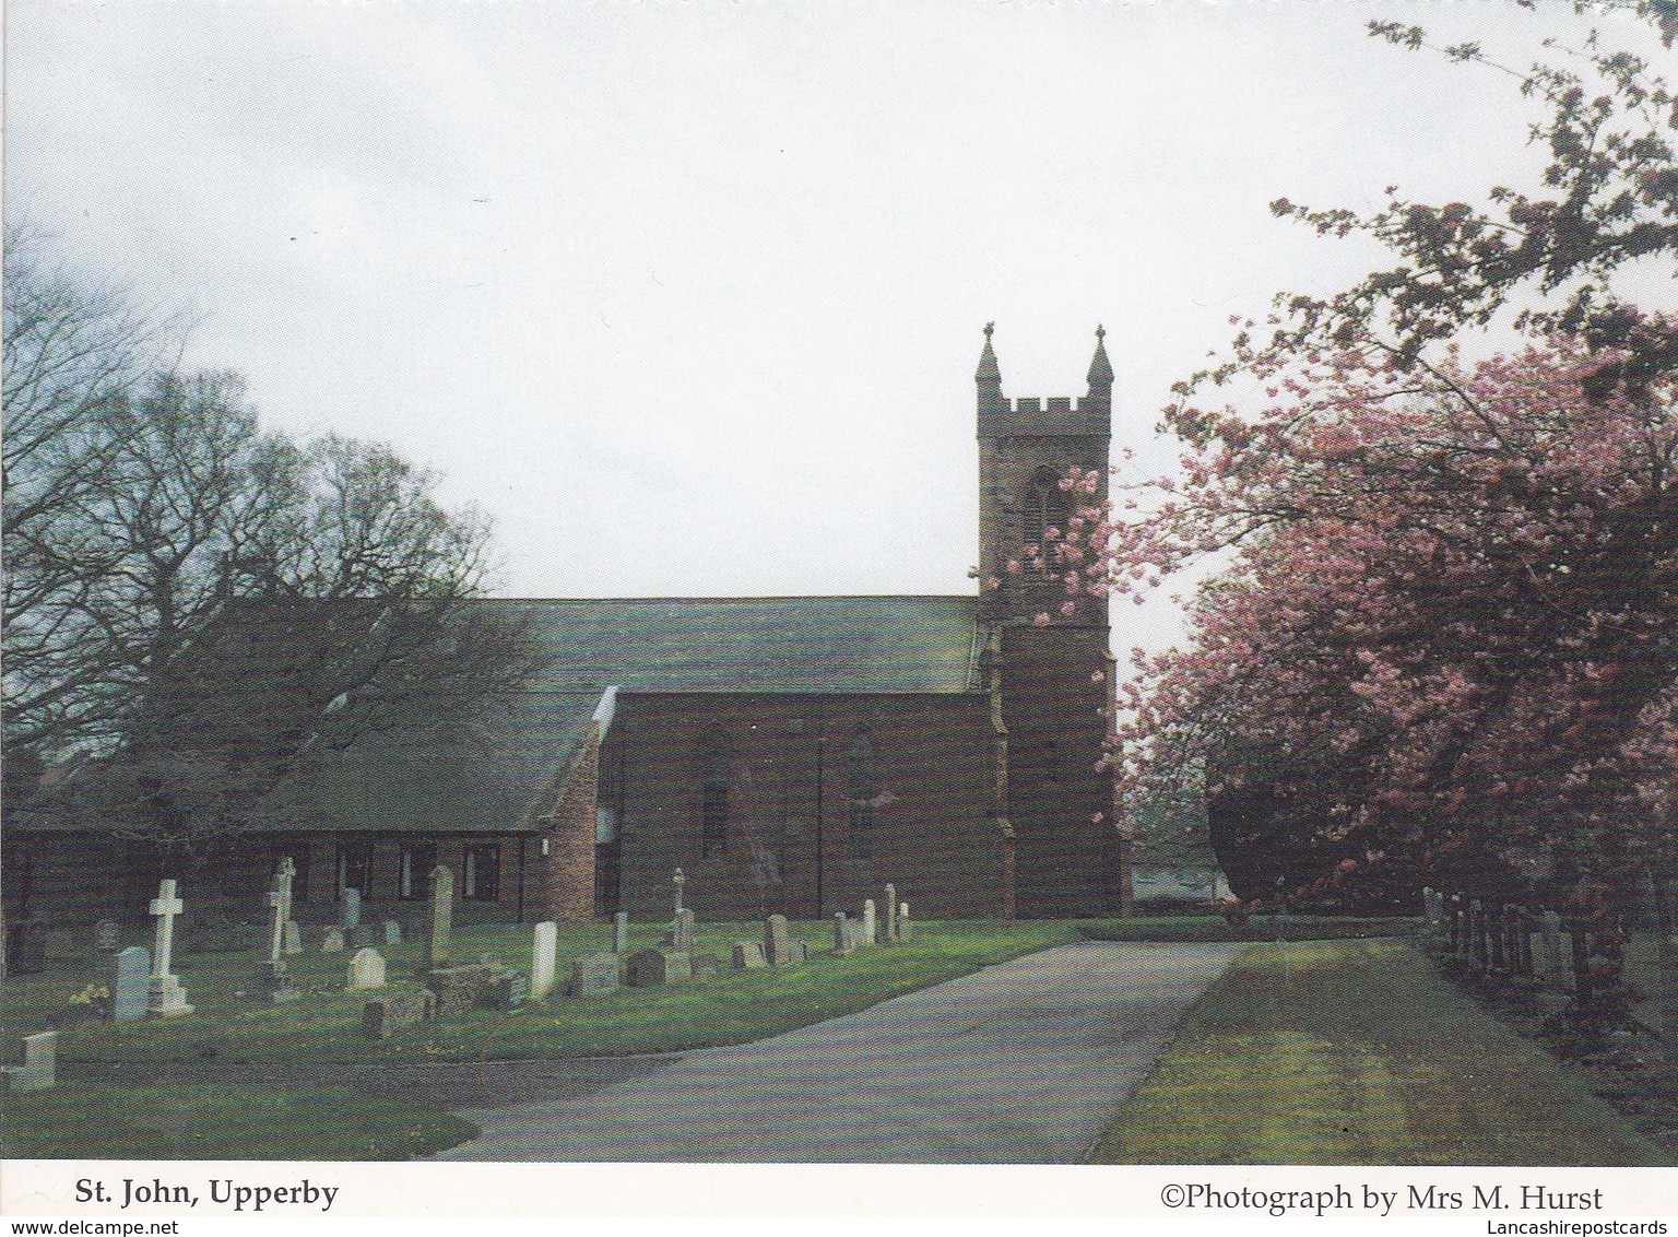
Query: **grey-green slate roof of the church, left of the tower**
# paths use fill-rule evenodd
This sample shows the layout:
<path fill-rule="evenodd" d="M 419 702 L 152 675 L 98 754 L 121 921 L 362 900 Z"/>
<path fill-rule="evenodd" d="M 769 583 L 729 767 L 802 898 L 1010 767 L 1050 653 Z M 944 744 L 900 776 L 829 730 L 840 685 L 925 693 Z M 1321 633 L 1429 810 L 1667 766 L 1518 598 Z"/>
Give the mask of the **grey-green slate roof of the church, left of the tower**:
<path fill-rule="evenodd" d="M 346 754 L 317 829 L 532 827 L 607 688 L 955 693 L 978 686 L 977 598 L 492 601 L 530 624 L 549 666 L 492 710 L 477 744 Z"/>

